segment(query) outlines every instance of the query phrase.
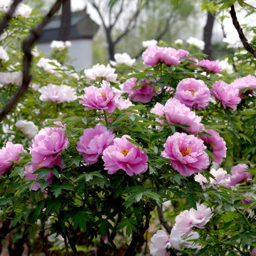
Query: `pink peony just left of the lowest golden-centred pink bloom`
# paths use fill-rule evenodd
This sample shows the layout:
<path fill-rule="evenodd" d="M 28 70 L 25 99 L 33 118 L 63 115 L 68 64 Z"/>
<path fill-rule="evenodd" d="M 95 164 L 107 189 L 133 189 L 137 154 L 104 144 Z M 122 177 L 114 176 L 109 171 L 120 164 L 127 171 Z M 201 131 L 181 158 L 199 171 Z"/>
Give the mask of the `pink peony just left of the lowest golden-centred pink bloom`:
<path fill-rule="evenodd" d="M 92 165 L 98 161 L 99 155 L 113 144 L 114 137 L 112 130 L 96 124 L 95 128 L 84 130 L 84 135 L 79 138 L 76 149 L 80 155 L 83 155 L 85 162 Z"/>

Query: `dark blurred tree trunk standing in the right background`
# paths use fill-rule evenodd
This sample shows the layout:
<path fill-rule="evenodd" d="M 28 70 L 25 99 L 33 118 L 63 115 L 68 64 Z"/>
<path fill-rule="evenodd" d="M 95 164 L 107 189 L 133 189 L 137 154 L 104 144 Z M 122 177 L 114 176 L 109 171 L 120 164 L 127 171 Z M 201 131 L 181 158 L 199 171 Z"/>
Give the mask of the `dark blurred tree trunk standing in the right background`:
<path fill-rule="evenodd" d="M 214 16 L 212 13 L 208 12 L 207 14 L 207 22 L 204 27 L 204 54 L 207 54 L 207 59 L 212 59 L 212 32 L 213 32 L 213 24 L 214 24 Z"/>

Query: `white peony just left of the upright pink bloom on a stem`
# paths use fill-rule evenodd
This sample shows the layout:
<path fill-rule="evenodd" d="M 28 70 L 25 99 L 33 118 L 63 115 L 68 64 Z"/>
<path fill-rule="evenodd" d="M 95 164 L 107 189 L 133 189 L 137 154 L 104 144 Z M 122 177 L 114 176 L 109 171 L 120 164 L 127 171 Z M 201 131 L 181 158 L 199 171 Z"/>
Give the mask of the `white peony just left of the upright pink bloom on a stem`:
<path fill-rule="evenodd" d="M 52 101 L 52 102 L 71 102 L 76 101 L 77 96 L 73 91 L 73 88 L 68 85 L 53 85 L 48 84 L 38 90 L 41 93 L 41 101 Z"/>

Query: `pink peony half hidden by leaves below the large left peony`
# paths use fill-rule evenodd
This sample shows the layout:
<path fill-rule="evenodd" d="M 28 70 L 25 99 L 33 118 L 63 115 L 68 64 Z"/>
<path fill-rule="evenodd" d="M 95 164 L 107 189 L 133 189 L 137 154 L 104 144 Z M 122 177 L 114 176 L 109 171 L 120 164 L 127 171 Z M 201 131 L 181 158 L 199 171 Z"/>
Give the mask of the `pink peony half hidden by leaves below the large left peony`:
<path fill-rule="evenodd" d="M 64 163 L 62 162 L 62 158 L 57 157 L 53 162 L 50 163 L 48 166 L 43 167 L 49 167 L 54 168 L 54 165 L 59 166 L 60 169 L 65 168 Z M 34 171 L 37 171 L 37 169 L 41 168 L 36 163 L 32 163 L 31 165 L 25 166 L 24 176 L 26 180 L 35 180 L 37 179 L 38 174 L 33 174 Z M 54 174 L 52 172 L 48 172 L 47 179 L 45 177 L 42 177 L 42 179 L 47 180 L 49 184 L 52 183 L 52 177 L 54 177 Z M 32 190 L 38 190 L 40 188 L 40 183 L 35 183 L 32 187 Z"/>

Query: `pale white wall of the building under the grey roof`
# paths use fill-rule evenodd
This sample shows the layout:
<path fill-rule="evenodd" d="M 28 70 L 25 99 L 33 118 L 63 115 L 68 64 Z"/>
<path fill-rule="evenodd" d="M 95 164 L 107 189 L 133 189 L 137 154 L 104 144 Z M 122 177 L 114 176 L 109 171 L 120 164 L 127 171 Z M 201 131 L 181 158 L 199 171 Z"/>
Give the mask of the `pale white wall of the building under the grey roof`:
<path fill-rule="evenodd" d="M 69 65 L 74 66 L 76 71 L 90 68 L 93 65 L 93 40 L 91 39 L 76 39 L 70 40 L 72 43 L 69 48 L 68 55 L 71 57 Z M 46 54 L 48 57 L 52 52 L 51 43 L 38 43 L 38 50 Z"/>

